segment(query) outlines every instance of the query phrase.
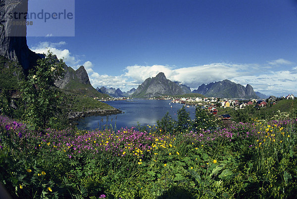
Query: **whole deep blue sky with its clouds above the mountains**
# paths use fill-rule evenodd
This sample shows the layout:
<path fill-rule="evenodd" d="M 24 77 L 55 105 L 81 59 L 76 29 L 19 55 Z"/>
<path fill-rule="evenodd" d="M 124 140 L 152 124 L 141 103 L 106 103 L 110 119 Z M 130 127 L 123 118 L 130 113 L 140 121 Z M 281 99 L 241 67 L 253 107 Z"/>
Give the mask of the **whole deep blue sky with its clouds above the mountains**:
<path fill-rule="evenodd" d="M 28 46 L 84 65 L 94 87 L 164 72 L 192 89 L 228 79 L 297 96 L 296 0 L 75 0 L 75 37 L 47 35 Z"/>

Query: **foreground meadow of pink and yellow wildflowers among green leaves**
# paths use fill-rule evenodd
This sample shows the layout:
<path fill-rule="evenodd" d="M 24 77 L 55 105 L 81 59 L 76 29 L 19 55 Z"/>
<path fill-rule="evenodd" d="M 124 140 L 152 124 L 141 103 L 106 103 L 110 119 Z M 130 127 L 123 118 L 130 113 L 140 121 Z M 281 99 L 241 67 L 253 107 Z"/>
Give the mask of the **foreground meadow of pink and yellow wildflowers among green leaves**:
<path fill-rule="evenodd" d="M 296 127 L 32 129 L 0 116 L 0 182 L 13 198 L 294 198 Z"/>

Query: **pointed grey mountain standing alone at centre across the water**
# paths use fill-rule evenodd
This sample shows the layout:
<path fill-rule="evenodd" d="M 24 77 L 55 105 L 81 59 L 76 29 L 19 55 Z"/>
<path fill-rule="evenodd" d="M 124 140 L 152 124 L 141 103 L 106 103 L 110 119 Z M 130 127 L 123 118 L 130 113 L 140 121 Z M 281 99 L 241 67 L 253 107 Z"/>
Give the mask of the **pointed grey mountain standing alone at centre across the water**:
<path fill-rule="evenodd" d="M 181 95 L 185 94 L 183 89 L 173 81 L 167 80 L 164 73 L 159 73 L 154 78 L 148 78 L 141 85 L 131 97 L 147 98 L 156 97 L 160 95 Z"/>

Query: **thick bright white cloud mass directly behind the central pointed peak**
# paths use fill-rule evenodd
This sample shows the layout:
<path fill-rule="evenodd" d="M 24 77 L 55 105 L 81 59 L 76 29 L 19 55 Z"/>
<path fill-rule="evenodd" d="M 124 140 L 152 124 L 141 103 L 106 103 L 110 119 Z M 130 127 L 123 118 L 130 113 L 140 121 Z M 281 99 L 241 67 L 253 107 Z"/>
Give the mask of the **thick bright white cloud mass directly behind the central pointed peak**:
<path fill-rule="evenodd" d="M 138 83 L 142 83 L 147 78 L 155 77 L 159 72 L 163 72 L 167 79 L 180 81 L 193 89 L 197 89 L 202 83 L 207 84 L 213 81 L 247 75 L 252 67 L 257 67 L 257 65 L 214 63 L 180 69 L 172 69 L 169 66 L 161 65 L 136 65 L 126 67 L 125 76 L 136 80 Z"/>

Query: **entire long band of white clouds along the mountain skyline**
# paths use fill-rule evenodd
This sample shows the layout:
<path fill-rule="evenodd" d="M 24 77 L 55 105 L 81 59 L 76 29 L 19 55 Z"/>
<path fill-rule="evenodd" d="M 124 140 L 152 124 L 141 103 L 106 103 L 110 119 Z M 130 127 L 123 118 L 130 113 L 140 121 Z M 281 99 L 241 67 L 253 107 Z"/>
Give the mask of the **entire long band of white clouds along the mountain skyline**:
<path fill-rule="evenodd" d="M 72 55 L 68 49 L 62 48 L 64 45 L 66 45 L 65 41 L 56 43 L 40 42 L 37 46 L 32 47 L 31 50 L 37 53 L 47 53 L 50 50 L 59 59 L 64 57 L 66 64 L 75 70 L 83 65 L 95 88 L 105 86 L 107 88 L 114 87 L 120 88 L 122 91 L 127 91 L 133 87 L 137 88 L 147 78 L 155 77 L 159 72 L 163 72 L 167 79 L 180 81 L 190 86 L 192 90 L 197 89 L 202 83 L 207 84 L 228 79 L 242 85 L 247 85 L 248 83 L 255 91 L 267 95 L 280 96 L 293 93 L 297 96 L 297 66 L 286 71 L 271 70 L 271 66 L 293 64 L 291 61 L 285 59 L 270 61 L 268 62 L 270 66 L 267 64 L 212 63 L 176 69 L 176 67 L 163 65 L 134 65 L 127 66 L 124 73 L 120 76 L 109 76 L 97 73 L 91 61 L 83 61 L 78 56 Z M 265 68 L 266 70 L 259 70 L 259 68 Z"/>

